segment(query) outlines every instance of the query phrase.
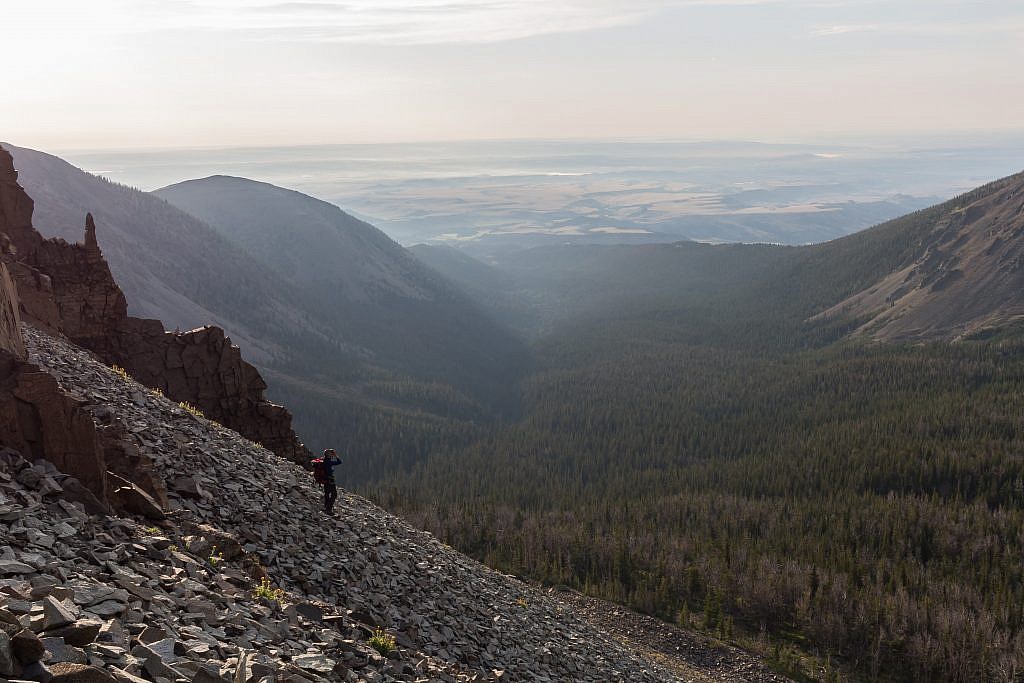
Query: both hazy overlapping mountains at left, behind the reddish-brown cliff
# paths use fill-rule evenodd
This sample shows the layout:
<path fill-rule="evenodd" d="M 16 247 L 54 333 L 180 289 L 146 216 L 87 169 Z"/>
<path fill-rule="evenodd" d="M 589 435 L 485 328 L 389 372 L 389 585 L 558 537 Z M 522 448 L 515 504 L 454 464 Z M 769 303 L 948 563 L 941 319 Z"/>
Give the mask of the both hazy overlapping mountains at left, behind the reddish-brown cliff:
<path fill-rule="evenodd" d="M 349 431 L 352 411 L 480 419 L 525 361 L 456 285 L 333 205 L 223 176 L 161 197 L 4 146 L 44 236 L 80 239 L 91 211 L 131 311 L 223 327 L 314 445 Z"/>

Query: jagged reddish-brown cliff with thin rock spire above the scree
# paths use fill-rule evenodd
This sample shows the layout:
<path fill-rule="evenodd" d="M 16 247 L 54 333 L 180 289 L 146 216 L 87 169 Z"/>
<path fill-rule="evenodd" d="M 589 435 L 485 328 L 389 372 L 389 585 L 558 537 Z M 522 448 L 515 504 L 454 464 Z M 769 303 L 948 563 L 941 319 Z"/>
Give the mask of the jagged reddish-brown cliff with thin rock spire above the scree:
<path fill-rule="evenodd" d="M 308 462 L 291 414 L 266 400 L 265 382 L 222 330 L 170 333 L 159 321 L 129 316 L 92 216 L 85 219 L 84 242 L 73 245 L 44 240 L 32 226 L 32 210 L 10 155 L 0 150 L 0 233 L 5 236 L 0 246 L 28 322 L 124 368 L 174 400 L 196 405 L 278 455 Z"/>

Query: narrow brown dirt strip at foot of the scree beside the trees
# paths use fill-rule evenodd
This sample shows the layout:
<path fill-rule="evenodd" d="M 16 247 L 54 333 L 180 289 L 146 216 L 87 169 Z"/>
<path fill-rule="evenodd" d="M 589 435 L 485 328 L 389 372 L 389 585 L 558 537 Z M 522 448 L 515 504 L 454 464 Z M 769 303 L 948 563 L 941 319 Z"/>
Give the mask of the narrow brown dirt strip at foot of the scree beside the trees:
<path fill-rule="evenodd" d="M 549 591 L 556 600 L 628 647 L 671 669 L 686 683 L 792 683 L 749 652 L 574 591 Z"/>

